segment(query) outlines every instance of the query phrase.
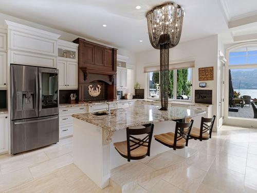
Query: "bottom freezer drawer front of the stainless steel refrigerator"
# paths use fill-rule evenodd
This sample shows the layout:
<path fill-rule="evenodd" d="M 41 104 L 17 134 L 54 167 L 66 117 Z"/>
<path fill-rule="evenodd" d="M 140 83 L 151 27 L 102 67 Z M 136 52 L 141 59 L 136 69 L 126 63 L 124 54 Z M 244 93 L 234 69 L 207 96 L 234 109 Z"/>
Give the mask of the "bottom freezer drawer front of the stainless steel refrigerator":
<path fill-rule="evenodd" d="M 20 153 L 59 142 L 59 116 L 11 122 L 11 153 Z"/>

